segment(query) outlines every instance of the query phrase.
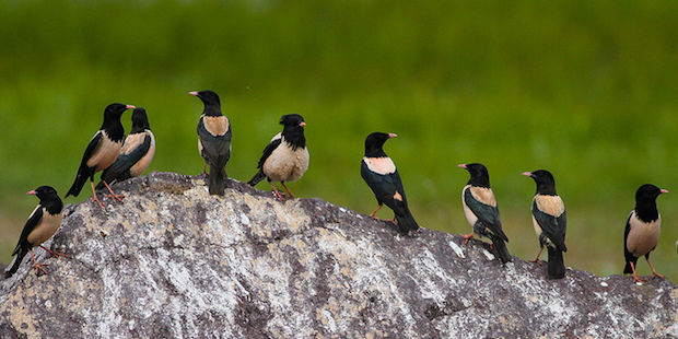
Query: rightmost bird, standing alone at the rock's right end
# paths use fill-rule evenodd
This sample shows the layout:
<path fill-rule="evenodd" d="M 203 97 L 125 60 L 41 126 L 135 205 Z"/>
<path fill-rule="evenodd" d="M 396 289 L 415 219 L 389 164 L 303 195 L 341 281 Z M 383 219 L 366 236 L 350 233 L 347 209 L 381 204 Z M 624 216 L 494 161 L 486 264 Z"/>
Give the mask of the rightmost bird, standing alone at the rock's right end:
<path fill-rule="evenodd" d="M 667 192 L 668 190 L 661 189 L 652 184 L 642 185 L 635 191 L 635 208 L 627 219 L 623 234 L 623 254 L 627 266 L 623 272 L 624 274 L 631 273 L 633 280 L 640 283 L 645 281 L 635 272 L 635 264 L 641 256 L 645 256 L 645 260 L 652 269 L 652 278 L 665 278 L 652 267 L 650 253 L 655 249 L 659 242 L 659 230 L 662 227 L 662 214 L 657 211 L 657 197 Z"/>

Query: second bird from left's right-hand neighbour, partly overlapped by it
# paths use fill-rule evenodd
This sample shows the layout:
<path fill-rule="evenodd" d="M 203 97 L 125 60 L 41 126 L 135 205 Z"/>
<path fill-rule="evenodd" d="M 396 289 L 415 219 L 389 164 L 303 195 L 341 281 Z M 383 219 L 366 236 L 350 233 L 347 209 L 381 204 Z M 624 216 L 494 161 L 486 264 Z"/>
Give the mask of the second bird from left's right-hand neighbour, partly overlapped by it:
<path fill-rule="evenodd" d="M 155 154 L 155 137 L 149 126 L 145 109 L 138 107 L 132 110 L 132 130 L 125 139 L 116 161 L 102 172 L 102 180 L 96 189 L 105 184 L 113 185 L 138 175 L 145 171 Z"/>

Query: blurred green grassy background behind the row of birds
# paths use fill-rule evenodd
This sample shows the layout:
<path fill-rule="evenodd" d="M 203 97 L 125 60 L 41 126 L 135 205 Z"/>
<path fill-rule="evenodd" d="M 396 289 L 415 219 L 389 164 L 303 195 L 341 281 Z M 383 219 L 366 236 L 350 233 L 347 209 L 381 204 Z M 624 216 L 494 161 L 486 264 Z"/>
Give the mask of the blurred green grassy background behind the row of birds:
<path fill-rule="evenodd" d="M 652 259 L 678 282 L 677 12 L 678 2 L 609 0 L 3 1 L 0 260 L 37 202 L 25 192 L 67 191 L 113 102 L 147 108 L 157 139 L 149 171 L 200 173 L 202 104 L 188 92 L 209 89 L 233 125 L 232 177 L 249 179 L 280 116 L 299 113 L 312 161 L 290 189 L 370 213 L 363 141 L 396 132 L 385 150 L 421 225 L 470 232 L 468 174 L 456 165 L 481 162 L 524 259 L 539 247 L 535 184 L 522 172 L 553 173 L 565 265 L 600 276 L 623 269 L 635 189 L 675 191 L 658 198 Z M 122 121 L 129 131 L 129 113 Z M 85 187 L 66 202 L 86 197 Z"/>

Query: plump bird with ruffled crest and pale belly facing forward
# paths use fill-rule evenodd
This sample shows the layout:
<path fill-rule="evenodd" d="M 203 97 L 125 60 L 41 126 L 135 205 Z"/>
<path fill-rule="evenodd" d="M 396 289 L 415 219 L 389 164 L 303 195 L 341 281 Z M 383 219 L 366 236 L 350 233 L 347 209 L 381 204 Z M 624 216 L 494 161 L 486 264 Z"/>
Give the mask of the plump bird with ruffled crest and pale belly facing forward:
<path fill-rule="evenodd" d="M 308 149 L 306 137 L 304 137 L 306 122 L 299 114 L 288 114 L 280 118 L 280 125 L 282 125 L 282 132 L 276 135 L 264 149 L 264 154 L 257 165 L 259 172 L 247 184 L 255 186 L 267 179 L 276 197 L 284 200 L 272 183 L 279 182 L 290 199 L 294 199 L 294 195 L 284 183 L 299 180 L 308 170 Z"/>

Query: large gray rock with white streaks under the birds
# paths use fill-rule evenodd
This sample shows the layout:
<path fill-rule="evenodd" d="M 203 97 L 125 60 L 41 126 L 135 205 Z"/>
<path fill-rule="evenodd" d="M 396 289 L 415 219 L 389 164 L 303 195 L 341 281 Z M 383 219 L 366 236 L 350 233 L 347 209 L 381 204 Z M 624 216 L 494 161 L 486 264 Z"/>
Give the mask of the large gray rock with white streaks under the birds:
<path fill-rule="evenodd" d="M 280 202 L 230 180 L 153 172 L 66 210 L 36 276 L 0 282 L 0 337 L 678 337 L 678 290 L 629 277 L 502 267 L 478 241 L 397 235 L 320 199 Z"/>

